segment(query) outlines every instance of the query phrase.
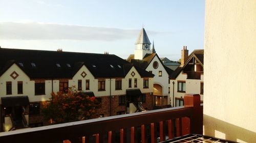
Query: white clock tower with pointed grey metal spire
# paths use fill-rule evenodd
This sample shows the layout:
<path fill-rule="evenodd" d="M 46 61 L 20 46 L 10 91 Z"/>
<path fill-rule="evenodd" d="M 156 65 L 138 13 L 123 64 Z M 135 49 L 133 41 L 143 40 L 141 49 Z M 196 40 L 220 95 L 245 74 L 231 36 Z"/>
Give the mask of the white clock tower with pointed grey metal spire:
<path fill-rule="evenodd" d="M 134 59 L 142 60 L 147 53 L 152 53 L 150 46 L 150 40 L 146 35 L 145 29 L 142 28 L 135 43 Z"/>

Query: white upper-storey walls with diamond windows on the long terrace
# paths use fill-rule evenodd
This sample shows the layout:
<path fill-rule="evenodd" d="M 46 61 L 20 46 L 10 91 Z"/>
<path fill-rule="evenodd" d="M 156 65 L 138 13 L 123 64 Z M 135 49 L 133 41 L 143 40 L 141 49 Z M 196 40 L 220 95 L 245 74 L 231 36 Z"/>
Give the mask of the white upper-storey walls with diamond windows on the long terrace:
<path fill-rule="evenodd" d="M 13 79 L 10 74 L 15 71 L 18 74 L 16 79 Z M 81 73 L 86 72 L 86 76 L 82 77 Z M 134 72 L 134 77 L 131 73 Z M 132 88 L 129 88 L 129 78 L 132 78 Z M 134 87 L 134 79 L 137 78 L 137 88 Z M 86 90 L 86 80 L 90 80 L 90 90 Z M 73 85 L 78 88 L 78 80 L 82 81 L 82 91 L 94 92 L 96 97 L 108 96 L 110 95 L 110 79 L 105 79 L 105 91 L 98 91 L 98 79 L 94 78 L 92 73 L 82 66 L 81 69 L 74 75 L 72 79 L 69 80 L 69 87 Z M 6 81 L 12 82 L 12 94 L 6 95 Z M 17 94 L 17 82 L 23 81 L 23 94 Z M 53 87 L 52 87 L 53 82 Z M 140 89 L 142 93 L 153 92 L 153 78 L 148 78 L 148 89 L 143 89 L 143 78 L 137 72 L 137 70 L 132 67 L 129 73 L 122 78 L 122 90 L 115 90 L 115 78 L 111 79 L 111 95 L 125 95 L 126 89 Z M 57 93 L 59 91 L 59 80 L 45 80 L 45 94 L 46 95 L 35 95 L 35 81 L 30 80 L 30 78 L 21 70 L 16 64 L 13 64 L 1 77 L 0 77 L 0 104 L 1 97 L 12 97 L 12 96 L 28 96 L 30 102 L 36 101 L 46 101 L 51 98 L 52 91 Z M 53 88 L 53 89 L 52 89 Z"/>

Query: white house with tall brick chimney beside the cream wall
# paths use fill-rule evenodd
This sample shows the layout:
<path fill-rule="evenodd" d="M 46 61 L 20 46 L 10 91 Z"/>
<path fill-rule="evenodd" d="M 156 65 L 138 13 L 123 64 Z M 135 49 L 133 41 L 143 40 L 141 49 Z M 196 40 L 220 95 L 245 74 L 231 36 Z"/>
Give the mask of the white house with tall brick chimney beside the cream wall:
<path fill-rule="evenodd" d="M 203 100 L 204 87 L 204 50 L 194 50 L 188 55 L 187 47 L 181 50 L 181 65 L 170 75 L 170 97 L 174 106 L 183 106 L 187 93 L 200 94 Z"/>

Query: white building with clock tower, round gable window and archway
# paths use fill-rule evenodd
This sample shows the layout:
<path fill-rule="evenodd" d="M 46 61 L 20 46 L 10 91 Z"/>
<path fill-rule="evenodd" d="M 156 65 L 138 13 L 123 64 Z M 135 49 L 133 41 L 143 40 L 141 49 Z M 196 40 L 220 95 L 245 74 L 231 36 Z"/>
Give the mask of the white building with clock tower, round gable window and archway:
<path fill-rule="evenodd" d="M 155 52 L 154 42 L 151 49 L 151 42 L 147 37 L 145 29 L 142 28 L 135 43 L 134 54 L 131 54 L 127 61 L 138 67 L 153 73 L 154 76 L 154 103 L 156 106 L 169 105 L 169 75 L 173 70 L 163 65 Z"/>

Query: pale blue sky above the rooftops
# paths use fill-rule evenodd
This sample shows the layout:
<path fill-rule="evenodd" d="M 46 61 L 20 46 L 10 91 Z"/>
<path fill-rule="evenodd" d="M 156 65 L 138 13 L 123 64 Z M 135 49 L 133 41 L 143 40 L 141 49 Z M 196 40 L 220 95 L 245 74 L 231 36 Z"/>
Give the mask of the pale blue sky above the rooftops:
<path fill-rule="evenodd" d="M 134 53 L 142 26 L 159 57 L 204 47 L 204 0 L 1 0 L 2 48 Z"/>

